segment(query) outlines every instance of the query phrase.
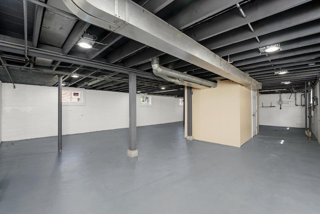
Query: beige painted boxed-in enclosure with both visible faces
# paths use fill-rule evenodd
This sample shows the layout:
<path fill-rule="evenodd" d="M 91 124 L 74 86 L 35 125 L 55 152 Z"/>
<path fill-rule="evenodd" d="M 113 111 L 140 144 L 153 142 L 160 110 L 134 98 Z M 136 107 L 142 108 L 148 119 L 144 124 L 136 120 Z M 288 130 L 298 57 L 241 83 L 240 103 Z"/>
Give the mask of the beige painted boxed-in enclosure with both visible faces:
<path fill-rule="evenodd" d="M 192 89 L 194 139 L 240 147 L 252 136 L 251 91 L 230 80 Z"/>

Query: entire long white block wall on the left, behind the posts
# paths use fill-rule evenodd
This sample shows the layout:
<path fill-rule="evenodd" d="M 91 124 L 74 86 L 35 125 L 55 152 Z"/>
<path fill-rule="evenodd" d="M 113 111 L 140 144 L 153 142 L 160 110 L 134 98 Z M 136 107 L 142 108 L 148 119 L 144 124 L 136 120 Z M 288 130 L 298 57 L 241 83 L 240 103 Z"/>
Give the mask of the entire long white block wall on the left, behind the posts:
<path fill-rule="evenodd" d="M 57 88 L 2 83 L 2 141 L 57 135 Z M 175 97 L 151 96 L 151 106 L 140 106 L 137 125 L 183 120 Z M 85 90 L 85 105 L 62 105 L 62 134 L 116 128 L 129 124 L 128 93 Z"/>

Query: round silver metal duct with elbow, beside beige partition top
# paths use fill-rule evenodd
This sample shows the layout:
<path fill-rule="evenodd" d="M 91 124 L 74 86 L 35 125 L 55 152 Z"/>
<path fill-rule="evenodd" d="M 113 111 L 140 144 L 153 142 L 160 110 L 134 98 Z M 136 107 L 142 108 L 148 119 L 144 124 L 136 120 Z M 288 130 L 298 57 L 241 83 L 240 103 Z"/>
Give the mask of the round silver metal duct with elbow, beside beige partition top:
<path fill-rule="evenodd" d="M 154 57 L 151 60 L 151 66 L 153 73 L 167 81 L 174 82 L 180 85 L 186 85 L 199 89 L 206 89 L 209 87 L 216 87 L 216 82 L 208 81 L 196 76 L 192 76 L 183 72 L 172 70 L 167 67 L 163 67 L 159 64 L 159 58 Z"/>

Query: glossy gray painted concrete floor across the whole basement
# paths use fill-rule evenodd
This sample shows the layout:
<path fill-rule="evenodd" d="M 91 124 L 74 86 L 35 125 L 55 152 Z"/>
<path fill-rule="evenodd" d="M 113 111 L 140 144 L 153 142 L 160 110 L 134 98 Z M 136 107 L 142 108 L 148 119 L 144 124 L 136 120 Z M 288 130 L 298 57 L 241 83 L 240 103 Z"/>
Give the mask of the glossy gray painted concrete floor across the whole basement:
<path fill-rule="evenodd" d="M 230 132 L 230 134 L 232 134 Z M 281 140 L 284 140 L 281 144 Z M 181 122 L 3 142 L 0 213 L 320 213 L 320 145 L 260 126 L 241 148 L 186 141 Z"/>

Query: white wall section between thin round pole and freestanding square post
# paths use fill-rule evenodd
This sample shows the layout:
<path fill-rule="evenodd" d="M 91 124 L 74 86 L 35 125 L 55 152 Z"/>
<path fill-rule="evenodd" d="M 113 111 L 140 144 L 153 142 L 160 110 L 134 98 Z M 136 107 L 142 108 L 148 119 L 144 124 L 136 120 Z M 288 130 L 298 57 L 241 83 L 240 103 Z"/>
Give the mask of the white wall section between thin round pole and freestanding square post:
<path fill-rule="evenodd" d="M 62 105 L 62 134 L 126 128 L 128 103 L 128 93 L 85 90 L 85 105 Z"/>

